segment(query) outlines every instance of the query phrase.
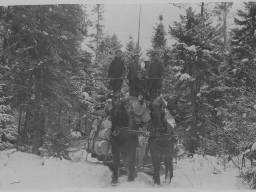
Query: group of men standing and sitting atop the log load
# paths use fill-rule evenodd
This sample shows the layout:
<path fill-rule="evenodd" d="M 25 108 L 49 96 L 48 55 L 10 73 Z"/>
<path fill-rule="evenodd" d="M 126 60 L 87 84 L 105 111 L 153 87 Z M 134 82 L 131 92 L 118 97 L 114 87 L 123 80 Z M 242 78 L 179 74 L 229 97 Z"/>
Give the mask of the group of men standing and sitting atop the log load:
<path fill-rule="evenodd" d="M 142 70 L 140 65 L 140 55 L 133 56 L 133 62 L 126 66 L 122 59 L 122 51 L 115 52 L 116 57 L 110 64 L 108 70 L 108 78 L 111 78 L 111 87 L 113 90 L 114 99 L 119 99 L 121 96 L 121 88 L 123 80 L 128 79 L 128 86 L 131 96 L 142 97 L 145 100 L 160 96 L 163 82 L 163 63 L 159 60 L 159 53 L 152 54 L 153 60 L 144 61 L 145 70 Z"/>

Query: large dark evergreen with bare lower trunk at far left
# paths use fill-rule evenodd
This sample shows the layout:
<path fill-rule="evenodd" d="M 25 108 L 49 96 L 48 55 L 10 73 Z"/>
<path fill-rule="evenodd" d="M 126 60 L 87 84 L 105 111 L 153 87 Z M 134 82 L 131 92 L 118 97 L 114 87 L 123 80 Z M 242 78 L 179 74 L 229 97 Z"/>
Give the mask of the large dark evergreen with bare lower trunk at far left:
<path fill-rule="evenodd" d="M 10 85 L 17 80 L 15 85 L 22 85 L 20 95 L 31 90 L 22 102 L 34 109 L 32 153 L 38 153 L 48 105 L 64 102 L 64 92 L 72 92 L 68 80 L 78 67 L 78 50 L 87 33 L 86 15 L 81 5 L 12 6 L 10 12 L 6 51 L 11 73 L 4 80 Z"/>

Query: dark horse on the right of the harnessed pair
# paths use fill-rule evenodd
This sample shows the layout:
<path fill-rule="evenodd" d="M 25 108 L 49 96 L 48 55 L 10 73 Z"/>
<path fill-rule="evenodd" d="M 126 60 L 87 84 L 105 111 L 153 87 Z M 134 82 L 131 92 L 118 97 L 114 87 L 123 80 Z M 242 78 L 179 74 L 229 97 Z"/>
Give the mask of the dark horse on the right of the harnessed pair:
<path fill-rule="evenodd" d="M 164 111 L 160 106 L 150 105 L 151 109 L 151 123 L 149 125 L 149 131 L 155 133 L 157 136 L 149 136 L 148 147 L 152 157 L 152 163 L 154 166 L 154 183 L 160 185 L 160 166 L 161 158 L 164 155 L 164 165 L 166 168 L 166 179 L 168 178 L 168 171 L 170 173 L 170 181 L 173 177 L 173 165 L 172 160 L 174 156 L 174 143 L 175 138 L 161 137 L 161 134 L 173 134 L 172 128 L 164 120 Z"/>

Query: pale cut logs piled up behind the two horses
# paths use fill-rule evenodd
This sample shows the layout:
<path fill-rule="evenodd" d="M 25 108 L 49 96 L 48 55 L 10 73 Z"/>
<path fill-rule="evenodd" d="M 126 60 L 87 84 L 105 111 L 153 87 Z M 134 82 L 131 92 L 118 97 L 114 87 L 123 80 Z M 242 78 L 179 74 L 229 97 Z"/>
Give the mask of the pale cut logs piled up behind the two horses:
<path fill-rule="evenodd" d="M 134 116 L 134 119 L 137 124 L 139 124 L 140 131 L 147 131 L 148 123 L 151 119 L 150 113 L 151 111 L 146 107 L 145 103 L 143 105 L 140 104 L 140 101 L 137 97 L 127 96 L 126 107 L 128 111 L 131 112 Z M 163 98 L 157 98 L 154 100 L 154 105 L 161 105 L 165 112 L 165 121 L 169 123 L 172 128 L 175 128 L 175 119 L 170 114 L 169 110 L 166 109 L 167 102 L 164 101 Z M 105 112 L 110 114 L 109 112 L 113 109 L 111 100 L 110 103 L 106 106 Z M 93 121 L 93 129 L 90 132 L 89 136 L 89 147 L 87 145 L 87 152 L 98 154 L 98 155 L 111 155 L 111 145 L 110 145 L 110 135 L 111 135 L 111 119 L 110 115 L 105 116 L 103 118 L 95 119 Z M 139 137 L 139 147 L 138 150 L 141 150 L 143 143 L 145 141 L 145 137 Z M 93 147 L 93 143 L 94 147 Z M 110 145 L 110 146 L 108 146 Z M 109 150 L 108 150 L 109 148 Z M 107 151 L 108 150 L 108 151 Z M 150 153 L 148 154 L 150 156 Z"/>

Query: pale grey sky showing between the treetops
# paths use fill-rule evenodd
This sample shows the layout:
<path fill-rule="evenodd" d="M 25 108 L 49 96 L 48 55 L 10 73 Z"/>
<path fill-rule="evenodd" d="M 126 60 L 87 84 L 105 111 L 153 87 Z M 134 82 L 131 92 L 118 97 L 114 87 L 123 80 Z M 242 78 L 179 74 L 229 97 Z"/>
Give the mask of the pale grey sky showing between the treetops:
<path fill-rule="evenodd" d="M 201 7 L 196 3 L 191 3 L 190 5 L 197 12 L 201 11 Z M 243 6 L 244 4 L 242 2 L 235 2 L 233 4 L 229 14 L 230 18 L 228 19 L 229 26 L 233 24 L 233 17 L 236 17 L 236 10 L 243 9 Z M 138 40 L 140 4 L 105 4 L 104 8 L 104 31 L 108 35 L 115 33 L 119 41 L 123 44 L 122 50 L 124 51 L 125 44 L 129 41 L 130 35 L 134 38 L 134 41 Z M 183 15 L 184 13 L 184 9 L 179 9 L 168 3 L 142 4 L 140 17 L 140 46 L 142 47 L 143 55 L 145 55 L 146 49 L 150 49 L 151 47 L 151 37 L 154 35 L 153 26 L 156 27 L 156 23 L 159 23 L 159 15 L 163 15 L 163 24 L 167 33 L 169 25 L 172 26 L 174 21 L 179 21 L 180 14 Z M 89 18 L 95 20 L 93 17 Z M 93 32 L 93 30 L 90 29 L 89 32 Z M 166 38 L 168 46 L 171 46 L 175 42 L 168 34 Z"/>

